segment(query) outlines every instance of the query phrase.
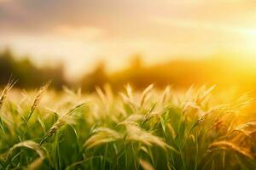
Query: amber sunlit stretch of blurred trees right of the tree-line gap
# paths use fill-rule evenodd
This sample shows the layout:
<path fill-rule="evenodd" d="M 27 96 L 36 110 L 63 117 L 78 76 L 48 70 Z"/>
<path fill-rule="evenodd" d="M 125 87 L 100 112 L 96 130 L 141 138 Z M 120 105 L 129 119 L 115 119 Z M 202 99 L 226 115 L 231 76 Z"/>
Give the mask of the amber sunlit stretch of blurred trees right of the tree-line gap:
<path fill-rule="evenodd" d="M 122 71 L 106 74 L 103 63 L 96 70 L 85 76 L 81 87 L 87 91 L 102 87 L 108 82 L 113 89 L 124 88 L 128 82 L 133 88 L 146 88 L 149 84 L 165 88 L 189 88 L 191 85 L 202 86 L 217 84 L 218 89 L 239 87 L 254 90 L 256 85 L 256 65 L 247 65 L 245 60 L 225 58 L 216 54 L 205 59 L 172 59 L 157 65 L 143 65 L 140 55 L 131 57 L 131 64 Z M 255 90 L 256 91 L 256 90 Z M 256 93 L 256 92 L 255 92 Z"/>

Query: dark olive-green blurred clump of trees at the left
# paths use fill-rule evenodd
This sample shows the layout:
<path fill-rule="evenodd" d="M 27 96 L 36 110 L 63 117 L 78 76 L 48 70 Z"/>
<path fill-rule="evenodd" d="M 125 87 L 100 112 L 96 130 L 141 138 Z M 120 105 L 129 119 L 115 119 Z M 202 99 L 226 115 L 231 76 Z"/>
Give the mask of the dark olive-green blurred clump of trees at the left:
<path fill-rule="evenodd" d="M 38 68 L 27 58 L 15 59 L 14 54 L 7 48 L 0 52 L 0 86 L 4 86 L 10 77 L 18 80 L 16 87 L 19 88 L 38 88 L 49 80 L 56 89 L 67 84 L 63 65 Z"/>

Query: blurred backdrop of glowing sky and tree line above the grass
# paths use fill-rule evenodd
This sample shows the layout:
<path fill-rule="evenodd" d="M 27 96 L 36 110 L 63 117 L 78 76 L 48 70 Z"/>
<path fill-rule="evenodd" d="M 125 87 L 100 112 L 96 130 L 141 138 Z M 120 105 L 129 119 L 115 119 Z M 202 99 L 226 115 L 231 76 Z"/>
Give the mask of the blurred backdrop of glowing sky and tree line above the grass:
<path fill-rule="evenodd" d="M 256 3 L 0 0 L 0 85 L 256 87 Z"/>

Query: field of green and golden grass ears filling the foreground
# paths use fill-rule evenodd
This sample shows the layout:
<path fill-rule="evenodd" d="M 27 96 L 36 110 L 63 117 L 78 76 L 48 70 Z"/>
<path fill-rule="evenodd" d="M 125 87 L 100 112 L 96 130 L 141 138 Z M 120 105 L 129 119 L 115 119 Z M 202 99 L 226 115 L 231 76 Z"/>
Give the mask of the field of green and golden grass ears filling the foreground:
<path fill-rule="evenodd" d="M 253 99 L 214 88 L 82 94 L 10 81 L 0 97 L 0 169 L 253 169 Z"/>

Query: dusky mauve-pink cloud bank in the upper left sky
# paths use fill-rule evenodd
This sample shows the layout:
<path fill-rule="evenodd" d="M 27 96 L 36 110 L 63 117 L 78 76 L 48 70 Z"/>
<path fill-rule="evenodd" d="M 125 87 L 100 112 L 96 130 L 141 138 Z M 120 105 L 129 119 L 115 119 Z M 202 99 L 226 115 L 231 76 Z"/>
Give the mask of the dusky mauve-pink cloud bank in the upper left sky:
<path fill-rule="evenodd" d="M 119 25 L 147 13 L 146 0 L 9 0 L 0 3 L 0 26 L 49 30 L 55 26 Z M 129 20 L 127 20 L 129 19 Z M 113 26 L 114 27 L 114 26 Z"/>

